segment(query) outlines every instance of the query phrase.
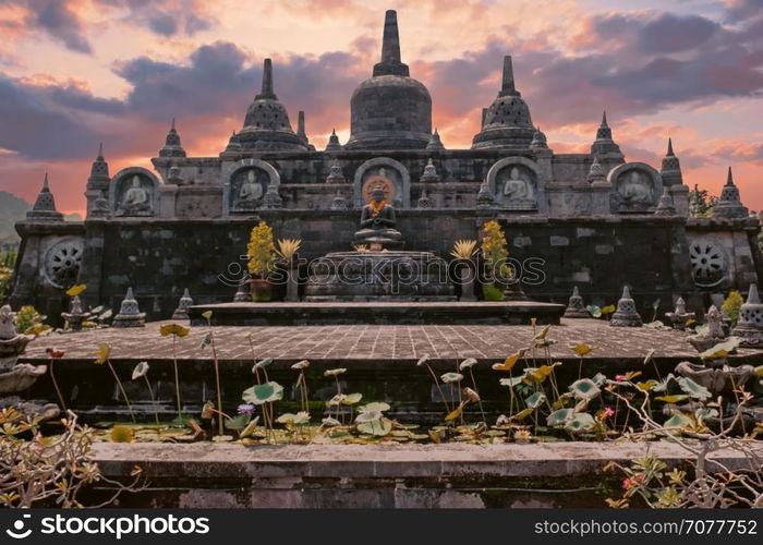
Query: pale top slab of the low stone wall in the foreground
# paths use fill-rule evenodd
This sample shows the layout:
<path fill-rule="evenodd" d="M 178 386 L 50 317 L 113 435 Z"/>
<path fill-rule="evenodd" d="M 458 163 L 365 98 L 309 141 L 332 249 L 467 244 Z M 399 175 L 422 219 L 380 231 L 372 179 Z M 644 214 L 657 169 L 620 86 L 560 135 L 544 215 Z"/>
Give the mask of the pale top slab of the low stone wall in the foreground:
<path fill-rule="evenodd" d="M 763 441 L 754 441 L 763 456 Z M 94 445 L 108 476 L 125 476 L 133 464 L 147 477 L 182 473 L 194 479 L 311 477 L 547 477 L 600 472 L 609 461 L 656 456 L 676 465 L 692 455 L 673 443 L 547 443 L 501 445 L 284 445 L 246 447 L 197 443 Z M 713 455 L 730 470 L 747 467 L 734 450 Z M 124 472 L 128 473 L 124 473 Z"/>

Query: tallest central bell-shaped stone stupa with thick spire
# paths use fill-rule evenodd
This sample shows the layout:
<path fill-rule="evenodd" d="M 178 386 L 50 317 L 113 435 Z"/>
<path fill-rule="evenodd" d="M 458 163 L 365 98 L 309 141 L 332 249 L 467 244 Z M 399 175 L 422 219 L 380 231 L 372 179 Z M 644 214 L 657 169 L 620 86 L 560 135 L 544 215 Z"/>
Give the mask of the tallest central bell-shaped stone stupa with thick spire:
<path fill-rule="evenodd" d="M 350 140 L 346 149 L 423 149 L 432 135 L 432 97 L 410 77 L 400 60 L 398 15 L 386 13 L 382 61 L 350 101 Z"/>

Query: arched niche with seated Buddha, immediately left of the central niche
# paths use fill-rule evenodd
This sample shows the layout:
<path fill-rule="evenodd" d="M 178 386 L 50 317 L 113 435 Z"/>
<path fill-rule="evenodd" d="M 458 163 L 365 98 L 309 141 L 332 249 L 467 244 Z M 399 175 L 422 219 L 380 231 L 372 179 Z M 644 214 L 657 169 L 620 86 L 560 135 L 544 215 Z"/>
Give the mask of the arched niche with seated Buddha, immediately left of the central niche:
<path fill-rule="evenodd" d="M 222 172 L 222 215 L 252 214 L 263 205 L 269 187 L 278 191 L 281 177 L 269 162 L 241 159 Z"/>

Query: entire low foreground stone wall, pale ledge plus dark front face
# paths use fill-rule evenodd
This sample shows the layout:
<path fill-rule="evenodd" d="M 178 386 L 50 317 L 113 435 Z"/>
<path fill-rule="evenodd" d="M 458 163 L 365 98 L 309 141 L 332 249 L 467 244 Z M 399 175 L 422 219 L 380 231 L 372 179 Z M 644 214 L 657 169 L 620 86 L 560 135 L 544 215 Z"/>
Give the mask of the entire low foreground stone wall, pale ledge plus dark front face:
<path fill-rule="evenodd" d="M 135 465 L 144 469 L 147 487 L 120 496 L 120 507 L 153 508 L 604 508 L 622 479 L 602 471 L 611 460 L 625 464 L 656 456 L 669 468 L 687 468 L 687 451 L 665 441 L 254 448 L 97 443 L 94 449 L 110 479 L 129 482 Z M 714 452 L 711 460 L 731 471 L 749 467 L 732 450 Z"/>

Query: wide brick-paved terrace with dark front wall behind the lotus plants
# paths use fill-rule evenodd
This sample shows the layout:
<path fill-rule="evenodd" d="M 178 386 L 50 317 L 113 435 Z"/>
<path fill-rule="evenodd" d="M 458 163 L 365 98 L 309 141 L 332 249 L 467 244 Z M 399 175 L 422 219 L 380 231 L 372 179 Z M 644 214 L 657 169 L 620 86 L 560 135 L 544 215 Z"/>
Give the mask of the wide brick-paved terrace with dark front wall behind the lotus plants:
<path fill-rule="evenodd" d="M 124 402 L 106 365 L 94 363 L 100 343 L 111 347 L 111 364 L 122 382 L 133 407 L 142 411 L 142 420 L 153 419 L 153 404 L 145 384 L 130 379 L 136 363 L 147 361 L 148 376 L 158 399 L 162 417 L 171 420 L 174 411 L 174 373 L 172 338 L 161 337 L 162 323 L 149 323 L 145 328 L 99 329 L 78 334 L 51 335 L 29 343 L 22 362 L 49 363 L 46 348 L 64 352 L 56 361 L 56 377 L 66 404 L 88 422 L 129 419 Z M 532 346 L 532 326 L 304 326 L 304 327 L 233 327 L 213 326 L 223 401 L 227 410 L 235 411 L 241 392 L 253 382 L 253 359 L 272 358 L 268 367 L 271 379 L 287 388 L 279 402 L 281 411 L 296 411 L 293 395 L 296 361 L 307 359 L 310 399 L 316 411 L 322 402 L 336 393 L 331 377 L 324 371 L 346 367 L 341 375 L 342 391 L 356 391 L 364 400 L 384 400 L 392 405 L 390 415 L 404 423 L 441 421 L 441 402 L 436 399 L 432 377 L 416 361 L 431 358 L 435 372 L 455 371 L 460 361 L 474 358 L 474 375 L 491 417 L 506 411 L 507 389 L 498 379 L 504 376 L 491 364 Z M 197 414 L 204 400 L 214 397 L 215 366 L 210 346 L 202 348 L 208 332 L 206 327 L 193 327 L 186 337 L 177 339 L 177 358 L 184 411 Z M 537 331 L 537 328 L 535 329 Z M 250 346 L 250 337 L 252 346 Z M 662 376 L 673 372 L 681 361 L 698 362 L 698 353 L 686 342 L 685 334 L 674 330 L 610 327 L 595 319 L 561 319 L 553 326 L 548 338 L 557 342 L 549 348 L 553 361 L 561 362 L 556 374 L 560 384 L 583 376 L 604 373 L 614 377 L 629 371 L 641 371 L 644 378 L 655 377 L 653 366 L 643 361 L 654 349 L 654 361 Z M 596 350 L 578 358 L 571 344 L 588 342 Z M 529 352 L 519 368 L 537 366 L 546 361 L 541 351 Z M 763 364 L 763 351 L 742 349 L 730 358 L 732 364 Z M 434 391 L 434 393 L 433 393 Z M 56 391 L 48 376 L 41 377 L 28 390 L 27 399 L 55 401 Z"/>

